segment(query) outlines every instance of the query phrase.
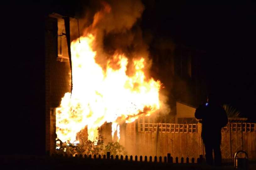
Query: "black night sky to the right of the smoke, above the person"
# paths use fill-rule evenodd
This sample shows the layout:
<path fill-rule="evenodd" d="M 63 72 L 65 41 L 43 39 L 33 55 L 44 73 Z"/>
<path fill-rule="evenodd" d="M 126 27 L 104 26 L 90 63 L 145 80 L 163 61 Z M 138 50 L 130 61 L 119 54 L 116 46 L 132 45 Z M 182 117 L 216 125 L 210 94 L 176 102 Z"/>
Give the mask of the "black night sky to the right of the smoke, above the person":
<path fill-rule="evenodd" d="M 155 37 L 205 51 L 205 81 L 225 103 L 255 119 L 255 4 L 143 2 L 143 26 Z"/>

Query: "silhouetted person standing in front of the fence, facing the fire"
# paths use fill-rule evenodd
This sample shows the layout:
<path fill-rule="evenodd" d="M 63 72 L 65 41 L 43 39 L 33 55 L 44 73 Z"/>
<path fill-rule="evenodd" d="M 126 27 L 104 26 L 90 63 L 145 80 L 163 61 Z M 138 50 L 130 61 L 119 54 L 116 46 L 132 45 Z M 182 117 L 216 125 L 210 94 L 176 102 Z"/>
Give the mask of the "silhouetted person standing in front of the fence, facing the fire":
<path fill-rule="evenodd" d="M 221 128 L 226 126 L 228 118 L 216 95 L 208 95 L 207 103 L 196 109 L 195 118 L 201 119 L 199 122 L 202 123 L 206 163 L 213 165 L 214 151 L 214 165 L 221 166 Z"/>

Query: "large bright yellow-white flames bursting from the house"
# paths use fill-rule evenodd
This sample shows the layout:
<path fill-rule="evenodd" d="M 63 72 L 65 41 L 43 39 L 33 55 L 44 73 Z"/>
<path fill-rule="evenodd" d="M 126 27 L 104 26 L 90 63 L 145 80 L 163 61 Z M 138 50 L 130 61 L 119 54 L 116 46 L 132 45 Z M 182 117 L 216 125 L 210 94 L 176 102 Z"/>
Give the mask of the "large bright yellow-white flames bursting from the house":
<path fill-rule="evenodd" d="M 112 122 L 112 135 L 119 124 L 131 123 L 140 115 L 149 116 L 160 108 L 160 81 L 147 79 L 144 58 L 133 60 L 134 74 L 127 76 L 128 59 L 115 54 L 106 70 L 95 62 L 92 50 L 95 37 L 80 37 L 71 43 L 73 90 L 62 98 L 56 109 L 56 133 L 62 142 L 76 141 L 76 134 L 87 126 L 88 140 L 95 141 L 98 128 Z M 113 69 L 113 62 L 119 69 Z"/>

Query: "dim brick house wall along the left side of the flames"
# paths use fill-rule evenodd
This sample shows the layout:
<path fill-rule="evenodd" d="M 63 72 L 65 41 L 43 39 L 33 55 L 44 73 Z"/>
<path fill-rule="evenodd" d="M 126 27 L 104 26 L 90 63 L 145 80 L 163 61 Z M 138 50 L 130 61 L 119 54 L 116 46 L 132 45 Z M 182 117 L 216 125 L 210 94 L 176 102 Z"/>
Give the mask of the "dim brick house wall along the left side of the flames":
<path fill-rule="evenodd" d="M 45 107 L 46 107 L 46 153 L 52 153 L 55 145 L 55 118 L 51 108 L 56 108 L 66 92 L 70 92 L 70 66 L 57 60 L 57 18 L 46 18 L 45 55 Z M 52 127 L 52 128 L 50 128 Z"/>

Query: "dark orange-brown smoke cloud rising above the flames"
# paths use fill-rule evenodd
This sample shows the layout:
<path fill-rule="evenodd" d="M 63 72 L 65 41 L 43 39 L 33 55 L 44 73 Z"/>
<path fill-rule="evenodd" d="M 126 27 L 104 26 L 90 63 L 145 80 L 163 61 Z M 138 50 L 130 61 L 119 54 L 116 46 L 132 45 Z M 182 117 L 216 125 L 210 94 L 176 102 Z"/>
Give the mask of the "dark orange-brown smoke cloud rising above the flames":
<path fill-rule="evenodd" d="M 131 58 L 147 59 L 148 46 L 143 42 L 138 19 L 144 10 L 144 5 L 138 1 L 107 1 L 101 2 L 103 9 L 95 13 L 90 29 L 95 32 L 97 49 L 96 62 L 106 68 L 106 61 L 114 53 L 124 53 L 128 61 L 128 74 Z"/>

